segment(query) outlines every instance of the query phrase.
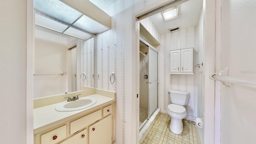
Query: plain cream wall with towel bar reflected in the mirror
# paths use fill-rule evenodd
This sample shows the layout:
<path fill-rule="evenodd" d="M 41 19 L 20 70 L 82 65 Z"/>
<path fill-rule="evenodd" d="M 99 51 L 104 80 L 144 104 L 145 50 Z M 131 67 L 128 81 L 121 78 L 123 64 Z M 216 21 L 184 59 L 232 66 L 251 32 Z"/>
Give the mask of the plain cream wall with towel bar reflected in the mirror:
<path fill-rule="evenodd" d="M 67 43 L 68 36 L 36 26 L 34 98 L 67 92 Z"/>

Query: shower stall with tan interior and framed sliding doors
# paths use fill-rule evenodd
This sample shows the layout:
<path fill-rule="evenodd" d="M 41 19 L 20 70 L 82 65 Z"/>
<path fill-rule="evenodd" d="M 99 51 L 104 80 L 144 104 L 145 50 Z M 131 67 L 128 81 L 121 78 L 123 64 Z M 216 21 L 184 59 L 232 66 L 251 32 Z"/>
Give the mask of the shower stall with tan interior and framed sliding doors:
<path fill-rule="evenodd" d="M 158 52 L 140 41 L 140 129 L 158 108 Z"/>

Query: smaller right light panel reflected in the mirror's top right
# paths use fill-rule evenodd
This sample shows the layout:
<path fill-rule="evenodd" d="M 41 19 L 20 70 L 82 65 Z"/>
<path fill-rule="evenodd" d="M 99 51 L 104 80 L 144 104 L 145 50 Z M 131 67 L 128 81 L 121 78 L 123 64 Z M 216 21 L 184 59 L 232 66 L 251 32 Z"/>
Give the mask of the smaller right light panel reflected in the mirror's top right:
<path fill-rule="evenodd" d="M 86 34 L 85 32 L 76 30 L 74 28 L 68 28 L 65 32 L 63 32 L 63 34 L 67 34 L 69 36 L 80 38 L 82 40 L 88 40 L 89 38 L 92 38 L 92 36 L 90 34 Z"/>

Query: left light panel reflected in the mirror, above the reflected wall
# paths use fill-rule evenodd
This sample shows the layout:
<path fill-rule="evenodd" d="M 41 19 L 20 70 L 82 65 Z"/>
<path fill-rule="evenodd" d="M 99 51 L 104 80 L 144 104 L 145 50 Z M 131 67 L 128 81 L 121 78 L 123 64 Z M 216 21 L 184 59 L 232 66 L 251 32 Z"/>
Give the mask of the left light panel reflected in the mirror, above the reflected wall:
<path fill-rule="evenodd" d="M 39 14 L 35 14 L 35 24 L 38 26 L 42 26 L 48 28 L 50 30 L 54 30 L 56 32 L 63 32 L 68 26 L 41 16 Z"/>

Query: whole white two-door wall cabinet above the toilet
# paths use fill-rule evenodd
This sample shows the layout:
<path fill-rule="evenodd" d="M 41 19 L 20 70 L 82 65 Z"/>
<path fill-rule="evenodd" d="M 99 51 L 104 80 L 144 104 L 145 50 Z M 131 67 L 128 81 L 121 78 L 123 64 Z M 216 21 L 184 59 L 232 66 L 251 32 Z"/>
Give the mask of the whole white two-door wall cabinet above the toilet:
<path fill-rule="evenodd" d="M 170 51 L 170 74 L 193 74 L 193 48 Z"/>

